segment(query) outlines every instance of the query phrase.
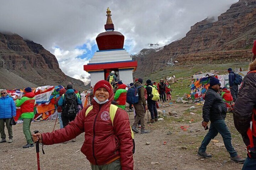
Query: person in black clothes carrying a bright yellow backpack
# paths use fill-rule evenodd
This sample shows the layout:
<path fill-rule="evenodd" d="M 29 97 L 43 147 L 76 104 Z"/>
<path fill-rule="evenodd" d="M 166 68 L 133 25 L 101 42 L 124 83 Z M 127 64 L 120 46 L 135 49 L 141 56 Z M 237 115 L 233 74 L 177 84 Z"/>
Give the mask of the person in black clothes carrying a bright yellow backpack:
<path fill-rule="evenodd" d="M 149 80 L 149 79 L 146 81 L 146 84 L 147 84 L 146 90 L 147 90 L 147 94 L 148 94 L 147 103 L 148 103 L 148 109 L 149 109 L 149 112 L 151 115 L 151 119 L 150 119 L 149 123 L 154 123 L 154 122 L 158 121 L 157 110 L 156 110 L 156 101 L 151 100 L 151 98 L 153 97 L 152 96 L 152 88 L 154 88 L 154 87 L 153 87 L 151 80 Z"/>

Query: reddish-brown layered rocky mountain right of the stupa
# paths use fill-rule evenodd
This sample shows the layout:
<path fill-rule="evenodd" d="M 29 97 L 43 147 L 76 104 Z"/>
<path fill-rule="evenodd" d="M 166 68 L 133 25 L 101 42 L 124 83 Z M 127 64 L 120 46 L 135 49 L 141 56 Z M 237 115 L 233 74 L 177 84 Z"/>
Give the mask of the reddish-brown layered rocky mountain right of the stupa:
<path fill-rule="evenodd" d="M 138 61 L 135 76 L 166 66 L 171 58 L 180 64 L 249 61 L 256 39 L 256 0 L 239 0 L 218 17 L 206 18 L 191 26 L 181 40 L 158 50 L 133 56 Z"/>

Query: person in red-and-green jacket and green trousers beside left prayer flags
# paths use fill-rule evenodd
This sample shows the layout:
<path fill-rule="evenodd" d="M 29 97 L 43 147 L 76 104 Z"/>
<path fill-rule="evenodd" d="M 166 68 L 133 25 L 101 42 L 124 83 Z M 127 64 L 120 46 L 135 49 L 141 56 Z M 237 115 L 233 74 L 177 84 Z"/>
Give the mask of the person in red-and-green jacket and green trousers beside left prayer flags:
<path fill-rule="evenodd" d="M 21 107 L 21 118 L 23 119 L 23 133 L 27 144 L 23 148 L 34 147 L 30 124 L 34 118 L 35 94 L 30 87 L 25 88 L 24 96 L 16 100 L 16 107 Z"/>

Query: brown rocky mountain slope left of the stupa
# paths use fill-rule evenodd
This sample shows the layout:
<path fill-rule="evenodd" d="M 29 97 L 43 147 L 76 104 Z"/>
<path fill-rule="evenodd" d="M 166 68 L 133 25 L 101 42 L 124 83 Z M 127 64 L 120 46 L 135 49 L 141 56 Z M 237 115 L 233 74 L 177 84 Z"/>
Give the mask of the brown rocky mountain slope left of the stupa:
<path fill-rule="evenodd" d="M 81 70 L 83 71 L 83 70 Z M 33 41 L 17 34 L 0 33 L 0 88 L 24 88 L 74 84 L 83 91 L 82 81 L 66 76 L 56 57 Z"/>

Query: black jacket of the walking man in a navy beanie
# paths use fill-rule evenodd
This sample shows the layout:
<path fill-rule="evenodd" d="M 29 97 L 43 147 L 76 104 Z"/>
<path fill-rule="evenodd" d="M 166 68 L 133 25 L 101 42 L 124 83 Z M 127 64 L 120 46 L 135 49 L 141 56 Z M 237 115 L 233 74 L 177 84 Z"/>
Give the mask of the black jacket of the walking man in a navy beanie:
<path fill-rule="evenodd" d="M 219 119 L 225 119 L 227 107 L 219 93 L 209 87 L 205 94 L 205 102 L 203 105 L 203 121 L 214 122 Z"/>

